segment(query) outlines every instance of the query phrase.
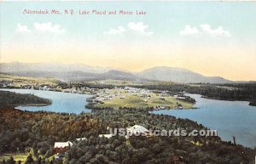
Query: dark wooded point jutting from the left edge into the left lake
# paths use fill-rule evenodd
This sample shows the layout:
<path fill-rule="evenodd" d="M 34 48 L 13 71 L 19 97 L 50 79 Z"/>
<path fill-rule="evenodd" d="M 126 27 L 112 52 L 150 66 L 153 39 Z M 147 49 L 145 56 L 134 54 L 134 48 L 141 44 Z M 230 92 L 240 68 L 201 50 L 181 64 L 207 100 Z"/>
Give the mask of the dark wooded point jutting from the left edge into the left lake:
<path fill-rule="evenodd" d="M 32 94 L 12 93 L 0 91 L 0 108 L 15 107 L 18 105 L 49 105 L 50 99 L 39 98 Z"/>

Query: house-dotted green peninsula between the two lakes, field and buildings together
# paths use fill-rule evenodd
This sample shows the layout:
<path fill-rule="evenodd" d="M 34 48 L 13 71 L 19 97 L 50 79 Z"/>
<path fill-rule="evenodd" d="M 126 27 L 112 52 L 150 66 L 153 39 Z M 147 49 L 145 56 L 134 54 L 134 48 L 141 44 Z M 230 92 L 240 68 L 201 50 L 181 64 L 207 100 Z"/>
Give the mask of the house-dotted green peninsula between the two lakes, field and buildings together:
<path fill-rule="evenodd" d="M 164 109 L 189 109 L 193 108 L 194 99 L 183 93 L 171 93 L 168 91 L 148 90 L 144 88 L 113 88 L 100 89 L 87 101 L 96 107 L 119 107 L 153 108 Z"/>

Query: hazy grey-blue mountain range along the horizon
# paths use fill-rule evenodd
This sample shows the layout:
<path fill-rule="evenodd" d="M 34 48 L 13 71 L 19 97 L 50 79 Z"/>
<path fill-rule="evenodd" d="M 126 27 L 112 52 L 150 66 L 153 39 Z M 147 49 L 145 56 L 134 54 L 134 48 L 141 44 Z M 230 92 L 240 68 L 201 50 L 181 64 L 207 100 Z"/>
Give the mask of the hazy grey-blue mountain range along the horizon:
<path fill-rule="evenodd" d="M 0 72 L 20 76 L 54 77 L 64 82 L 91 80 L 164 81 L 181 83 L 230 83 L 220 76 L 203 76 L 184 68 L 159 66 L 140 72 L 121 71 L 84 64 L 0 63 Z"/>

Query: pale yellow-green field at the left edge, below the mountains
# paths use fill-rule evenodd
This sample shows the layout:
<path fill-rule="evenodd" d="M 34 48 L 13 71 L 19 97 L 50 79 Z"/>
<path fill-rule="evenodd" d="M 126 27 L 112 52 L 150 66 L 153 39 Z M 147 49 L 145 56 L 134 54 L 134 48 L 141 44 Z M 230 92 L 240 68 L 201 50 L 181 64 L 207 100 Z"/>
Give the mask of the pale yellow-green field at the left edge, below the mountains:
<path fill-rule="evenodd" d="M 34 85 L 34 86 L 56 86 L 59 81 L 53 78 L 37 78 L 37 77 L 28 77 L 28 76 L 13 76 L 0 74 L 1 82 L 6 82 L 9 86 L 20 88 L 20 86 Z"/>

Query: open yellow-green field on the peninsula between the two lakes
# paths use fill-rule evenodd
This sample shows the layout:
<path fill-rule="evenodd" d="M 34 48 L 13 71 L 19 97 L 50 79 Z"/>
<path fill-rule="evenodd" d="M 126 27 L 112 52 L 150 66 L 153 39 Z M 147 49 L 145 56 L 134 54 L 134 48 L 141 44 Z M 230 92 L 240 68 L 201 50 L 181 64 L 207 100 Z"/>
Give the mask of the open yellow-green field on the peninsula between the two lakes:
<path fill-rule="evenodd" d="M 109 89 L 112 99 L 103 99 L 103 104 L 97 104 L 97 107 L 112 107 L 118 109 L 121 107 L 147 108 L 147 107 L 167 107 L 176 108 L 177 104 L 182 105 L 184 109 L 193 108 L 192 103 L 174 99 L 171 95 L 162 97 L 158 93 L 128 93 L 123 89 Z"/>

